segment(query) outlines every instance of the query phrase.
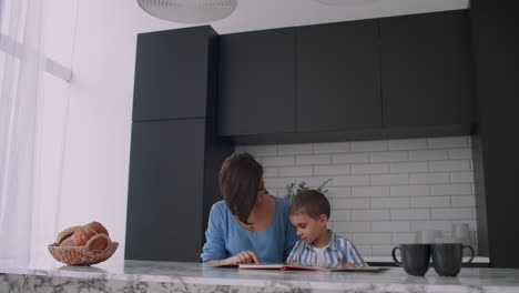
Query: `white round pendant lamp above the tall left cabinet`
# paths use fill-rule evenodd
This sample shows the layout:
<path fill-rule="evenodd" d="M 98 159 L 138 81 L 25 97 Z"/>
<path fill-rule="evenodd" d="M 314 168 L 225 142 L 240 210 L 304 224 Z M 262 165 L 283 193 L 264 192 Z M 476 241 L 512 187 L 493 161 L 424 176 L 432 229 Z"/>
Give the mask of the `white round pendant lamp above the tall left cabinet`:
<path fill-rule="evenodd" d="M 153 17 L 181 23 L 204 23 L 228 17 L 237 0 L 136 0 Z"/>

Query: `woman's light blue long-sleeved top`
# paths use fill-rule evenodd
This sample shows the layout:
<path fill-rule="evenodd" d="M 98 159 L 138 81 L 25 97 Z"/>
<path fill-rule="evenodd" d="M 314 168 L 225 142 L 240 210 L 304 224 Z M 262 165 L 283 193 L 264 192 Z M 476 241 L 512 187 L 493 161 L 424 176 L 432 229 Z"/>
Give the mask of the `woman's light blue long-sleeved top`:
<path fill-rule="evenodd" d="M 213 204 L 202 249 L 203 261 L 223 260 L 250 250 L 262 263 L 285 262 L 299 238 L 288 220 L 288 202 L 281 198 L 275 200 L 274 219 L 260 232 L 241 226 L 224 201 Z"/>

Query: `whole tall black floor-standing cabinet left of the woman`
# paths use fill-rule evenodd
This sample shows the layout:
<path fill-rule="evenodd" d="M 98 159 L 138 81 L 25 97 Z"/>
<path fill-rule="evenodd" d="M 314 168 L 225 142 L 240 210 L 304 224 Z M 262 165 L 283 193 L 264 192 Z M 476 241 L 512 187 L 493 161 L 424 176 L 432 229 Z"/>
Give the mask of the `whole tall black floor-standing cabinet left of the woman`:
<path fill-rule="evenodd" d="M 218 170 L 234 151 L 216 134 L 216 37 L 202 27 L 138 38 L 126 260 L 201 261 Z"/>

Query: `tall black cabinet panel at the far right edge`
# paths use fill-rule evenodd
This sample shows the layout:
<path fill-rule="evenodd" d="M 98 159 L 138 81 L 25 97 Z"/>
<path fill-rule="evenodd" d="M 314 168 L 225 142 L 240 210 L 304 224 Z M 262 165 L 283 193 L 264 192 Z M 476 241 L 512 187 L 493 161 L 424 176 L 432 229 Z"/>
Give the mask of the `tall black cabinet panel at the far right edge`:
<path fill-rule="evenodd" d="M 479 117 L 472 139 L 478 241 L 491 266 L 519 267 L 518 10 L 513 1 L 471 0 L 469 13 Z"/>

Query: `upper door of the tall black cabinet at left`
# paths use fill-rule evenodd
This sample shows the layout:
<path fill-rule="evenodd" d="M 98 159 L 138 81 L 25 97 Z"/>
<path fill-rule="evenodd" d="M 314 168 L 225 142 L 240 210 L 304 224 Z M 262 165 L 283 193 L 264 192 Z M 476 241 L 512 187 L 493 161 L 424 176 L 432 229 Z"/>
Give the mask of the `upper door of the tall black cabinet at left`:
<path fill-rule="evenodd" d="M 206 115 L 211 38 L 208 26 L 139 34 L 133 121 Z"/>

